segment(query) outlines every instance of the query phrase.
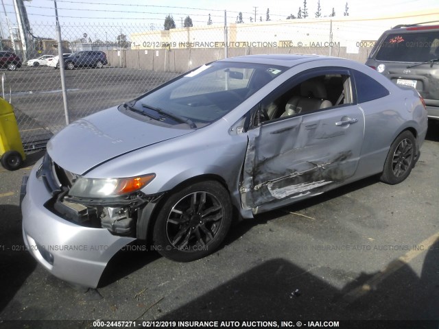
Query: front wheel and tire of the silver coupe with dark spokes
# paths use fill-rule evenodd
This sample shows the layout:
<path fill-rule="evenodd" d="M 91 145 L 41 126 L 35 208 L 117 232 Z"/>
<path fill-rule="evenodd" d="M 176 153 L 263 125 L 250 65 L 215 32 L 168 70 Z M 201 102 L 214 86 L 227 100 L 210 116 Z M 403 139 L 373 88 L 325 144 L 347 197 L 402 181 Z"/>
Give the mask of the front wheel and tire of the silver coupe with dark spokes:
<path fill-rule="evenodd" d="M 159 210 L 154 246 L 166 258 L 190 262 L 214 252 L 231 222 L 230 196 L 222 184 L 191 184 L 171 194 Z"/>

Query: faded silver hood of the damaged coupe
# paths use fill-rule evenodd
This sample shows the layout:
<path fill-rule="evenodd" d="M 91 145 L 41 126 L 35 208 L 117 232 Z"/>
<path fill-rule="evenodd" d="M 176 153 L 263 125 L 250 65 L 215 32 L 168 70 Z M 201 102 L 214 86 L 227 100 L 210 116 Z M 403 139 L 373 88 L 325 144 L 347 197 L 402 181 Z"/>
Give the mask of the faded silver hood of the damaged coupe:
<path fill-rule="evenodd" d="M 193 131 L 133 119 L 115 107 L 71 123 L 51 138 L 47 152 L 60 167 L 82 175 L 112 158 Z"/>

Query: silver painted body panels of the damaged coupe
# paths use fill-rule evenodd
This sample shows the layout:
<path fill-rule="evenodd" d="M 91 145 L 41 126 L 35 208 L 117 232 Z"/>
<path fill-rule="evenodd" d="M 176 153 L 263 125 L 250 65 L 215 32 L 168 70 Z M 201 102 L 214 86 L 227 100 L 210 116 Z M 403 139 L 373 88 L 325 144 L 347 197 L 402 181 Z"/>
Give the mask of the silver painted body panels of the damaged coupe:
<path fill-rule="evenodd" d="M 156 178 L 141 190 L 145 195 L 165 193 L 186 180 L 209 175 L 224 182 L 233 205 L 242 217 L 250 218 L 381 172 L 392 141 L 407 128 L 416 131 L 418 149 L 425 138 L 427 116 L 416 91 L 392 84 L 363 64 L 319 56 L 246 56 L 224 61 L 289 69 L 222 119 L 201 129 L 159 127 L 112 108 L 58 133 L 48 145 L 49 156 L 63 169 L 86 178 L 155 173 Z M 248 132 L 242 129 L 248 111 L 283 82 L 309 69 L 338 66 L 372 76 L 390 95 L 274 121 Z M 355 117 L 357 122 L 343 127 L 334 124 L 346 116 Z M 134 238 L 78 226 L 47 210 L 43 205 L 51 195 L 36 178 L 38 165 L 29 176 L 23 199 L 25 242 L 84 243 L 87 252 L 54 251 L 53 266 L 48 266 L 40 253 L 32 254 L 58 278 L 97 287 L 108 260 Z M 91 251 L 91 245 L 108 248 Z"/>

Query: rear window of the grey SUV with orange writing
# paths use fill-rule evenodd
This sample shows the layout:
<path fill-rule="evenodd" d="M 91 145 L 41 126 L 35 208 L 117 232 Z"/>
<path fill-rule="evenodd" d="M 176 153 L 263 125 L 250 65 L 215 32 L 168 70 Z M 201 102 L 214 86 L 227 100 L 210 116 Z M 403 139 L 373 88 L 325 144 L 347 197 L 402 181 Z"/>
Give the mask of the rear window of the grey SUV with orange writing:
<path fill-rule="evenodd" d="M 439 58 L 439 31 L 389 34 L 375 58 L 391 62 L 425 62 Z"/>

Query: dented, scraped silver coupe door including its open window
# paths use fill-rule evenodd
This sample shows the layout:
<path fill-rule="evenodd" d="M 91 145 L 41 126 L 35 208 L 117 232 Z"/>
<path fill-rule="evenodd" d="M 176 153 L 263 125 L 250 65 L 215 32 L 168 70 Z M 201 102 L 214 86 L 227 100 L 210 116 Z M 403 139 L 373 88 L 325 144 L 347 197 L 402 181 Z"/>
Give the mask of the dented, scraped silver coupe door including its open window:
<path fill-rule="evenodd" d="M 262 101 L 258 110 L 266 121 L 248 130 L 241 196 L 254 213 L 320 194 L 357 169 L 364 114 L 353 102 L 348 71 L 295 81 L 286 93 Z M 272 114 L 267 103 L 276 107 Z"/>

